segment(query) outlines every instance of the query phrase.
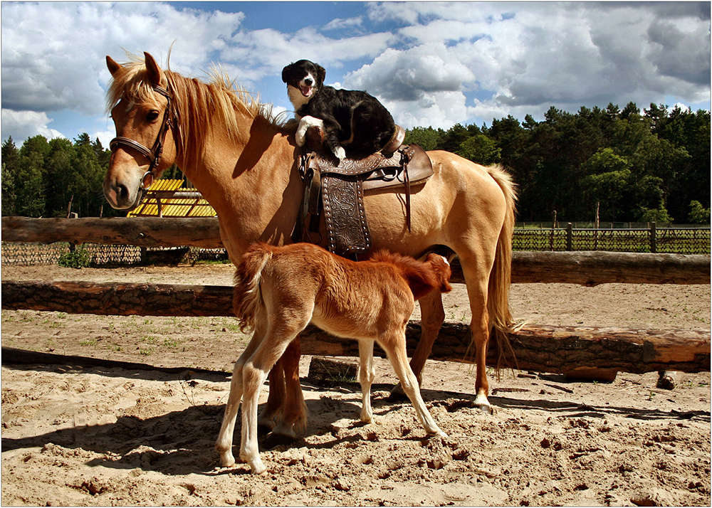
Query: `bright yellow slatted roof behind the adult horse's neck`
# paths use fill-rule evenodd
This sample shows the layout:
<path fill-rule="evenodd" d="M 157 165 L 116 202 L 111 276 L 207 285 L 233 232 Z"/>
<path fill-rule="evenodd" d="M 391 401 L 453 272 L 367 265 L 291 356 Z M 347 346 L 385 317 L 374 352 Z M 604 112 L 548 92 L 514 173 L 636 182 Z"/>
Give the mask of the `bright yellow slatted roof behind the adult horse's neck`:
<path fill-rule="evenodd" d="M 181 187 L 182 180 L 156 180 L 143 202 L 128 217 L 216 217 L 198 189 Z"/>

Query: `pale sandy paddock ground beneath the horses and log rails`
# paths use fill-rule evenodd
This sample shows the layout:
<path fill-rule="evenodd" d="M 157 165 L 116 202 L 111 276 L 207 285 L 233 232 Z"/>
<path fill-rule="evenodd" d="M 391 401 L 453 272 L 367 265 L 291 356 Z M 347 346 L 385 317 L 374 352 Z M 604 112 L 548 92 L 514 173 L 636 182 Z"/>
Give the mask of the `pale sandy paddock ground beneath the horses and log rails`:
<path fill-rule="evenodd" d="M 232 273 L 2 268 L 3 279 L 218 285 Z M 461 287 L 444 302 L 447 319 L 468 321 Z M 710 329 L 708 285 L 514 285 L 511 305 L 536 324 Z M 449 437 L 426 438 L 409 403 L 387 401 L 394 375 L 378 360 L 375 424 L 358 420 L 357 383 L 304 377 L 308 428 L 263 451 L 268 473 L 220 468 L 229 371 L 248 340 L 235 321 L 3 310 L 3 346 L 179 372 L 4 363 L 2 504 L 710 505 L 709 373 L 679 373 L 672 391 L 656 388 L 656 373 L 612 383 L 492 373 L 486 415 L 472 407 L 468 366 L 429 361 L 422 393 Z"/>

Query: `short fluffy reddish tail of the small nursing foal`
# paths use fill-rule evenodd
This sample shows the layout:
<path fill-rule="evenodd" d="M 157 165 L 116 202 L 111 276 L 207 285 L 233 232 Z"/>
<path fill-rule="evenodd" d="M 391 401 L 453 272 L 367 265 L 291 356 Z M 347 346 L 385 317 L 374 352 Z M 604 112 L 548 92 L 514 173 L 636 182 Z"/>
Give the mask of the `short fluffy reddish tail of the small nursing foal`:
<path fill-rule="evenodd" d="M 232 308 L 240 319 L 241 332 L 255 327 L 255 317 L 264 305 L 260 281 L 262 270 L 271 258 L 272 251 L 263 243 L 256 243 L 248 248 L 237 267 Z"/>

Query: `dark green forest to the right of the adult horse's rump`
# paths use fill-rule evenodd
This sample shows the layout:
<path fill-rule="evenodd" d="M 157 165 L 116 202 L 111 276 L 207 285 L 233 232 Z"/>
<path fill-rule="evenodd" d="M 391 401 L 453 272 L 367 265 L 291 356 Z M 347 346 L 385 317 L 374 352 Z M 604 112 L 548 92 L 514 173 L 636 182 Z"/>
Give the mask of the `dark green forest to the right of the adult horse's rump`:
<path fill-rule="evenodd" d="M 708 223 L 710 112 L 634 102 L 555 107 L 491 127 L 416 127 L 407 142 L 501 164 L 519 187 L 520 221 Z"/>

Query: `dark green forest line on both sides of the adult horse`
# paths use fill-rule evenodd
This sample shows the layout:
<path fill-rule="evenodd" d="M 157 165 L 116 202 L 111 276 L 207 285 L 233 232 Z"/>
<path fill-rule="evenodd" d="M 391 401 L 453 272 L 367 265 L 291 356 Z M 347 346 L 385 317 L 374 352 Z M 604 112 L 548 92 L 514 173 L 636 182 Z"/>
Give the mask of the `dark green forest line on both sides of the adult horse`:
<path fill-rule="evenodd" d="M 519 188 L 520 221 L 708 223 L 710 112 L 634 102 L 623 110 L 550 107 L 542 122 L 511 115 L 483 125 L 415 127 L 407 142 L 478 164 L 501 164 Z M 83 133 L 2 144 L 2 215 L 117 216 L 101 184 L 110 151 Z M 181 178 L 172 168 L 164 177 Z"/>

